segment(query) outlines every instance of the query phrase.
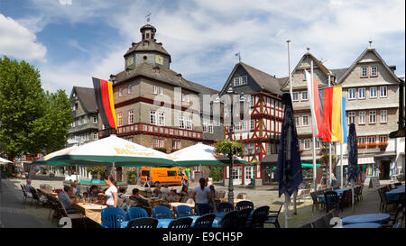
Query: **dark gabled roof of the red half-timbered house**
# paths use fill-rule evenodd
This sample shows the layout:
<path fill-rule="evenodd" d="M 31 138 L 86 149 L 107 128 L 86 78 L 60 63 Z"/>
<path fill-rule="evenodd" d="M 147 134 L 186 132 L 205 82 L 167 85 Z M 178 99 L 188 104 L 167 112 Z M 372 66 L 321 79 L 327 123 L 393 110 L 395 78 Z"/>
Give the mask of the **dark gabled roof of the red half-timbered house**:
<path fill-rule="evenodd" d="M 221 89 L 221 94 L 223 94 L 226 87 L 230 83 L 230 81 L 235 73 L 235 70 L 236 70 L 236 68 L 238 68 L 238 66 L 243 67 L 245 69 L 245 71 L 248 73 L 248 75 L 250 77 L 252 77 L 254 79 L 254 81 L 256 82 L 256 84 L 258 84 L 258 86 L 261 87 L 263 90 L 275 93 L 277 95 L 281 95 L 281 83 L 282 83 L 281 81 L 283 78 L 273 77 L 272 75 L 269 75 L 257 68 L 251 67 L 241 61 L 238 62 L 237 64 L 235 64 L 233 71 L 227 78 L 225 86 Z"/>

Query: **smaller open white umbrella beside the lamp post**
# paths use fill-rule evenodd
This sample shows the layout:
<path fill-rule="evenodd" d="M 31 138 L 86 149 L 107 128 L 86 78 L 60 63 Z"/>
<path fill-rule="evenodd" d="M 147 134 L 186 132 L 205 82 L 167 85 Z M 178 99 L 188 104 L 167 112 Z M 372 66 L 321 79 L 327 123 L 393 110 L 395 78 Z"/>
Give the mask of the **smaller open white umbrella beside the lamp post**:
<path fill-rule="evenodd" d="M 176 152 L 168 155 L 169 159 L 174 160 L 177 164 L 182 167 L 194 167 L 198 165 L 202 166 L 226 166 L 229 164 L 229 159 L 225 156 L 218 155 L 215 152 L 215 147 L 203 144 L 201 142 L 178 150 Z M 235 158 L 235 164 L 245 164 L 250 163 L 241 158 Z"/>

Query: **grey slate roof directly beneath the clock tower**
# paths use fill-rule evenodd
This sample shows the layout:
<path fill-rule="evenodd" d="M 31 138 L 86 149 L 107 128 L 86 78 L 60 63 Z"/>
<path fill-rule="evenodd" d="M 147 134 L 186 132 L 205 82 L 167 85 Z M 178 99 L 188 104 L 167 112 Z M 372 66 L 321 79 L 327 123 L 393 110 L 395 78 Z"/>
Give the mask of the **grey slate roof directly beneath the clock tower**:
<path fill-rule="evenodd" d="M 155 72 L 155 69 L 159 69 L 159 72 Z M 189 89 L 191 91 L 197 92 L 198 94 L 217 94 L 217 90 L 204 87 L 200 84 L 191 82 L 180 74 L 167 68 L 155 68 L 149 63 L 143 62 L 134 69 L 130 69 L 129 73 L 126 74 L 125 71 L 118 73 L 115 76 L 115 84 L 123 82 L 127 79 L 136 76 L 151 77 L 152 79 L 161 80 L 162 82 L 171 84 L 174 87 L 182 87 Z"/>

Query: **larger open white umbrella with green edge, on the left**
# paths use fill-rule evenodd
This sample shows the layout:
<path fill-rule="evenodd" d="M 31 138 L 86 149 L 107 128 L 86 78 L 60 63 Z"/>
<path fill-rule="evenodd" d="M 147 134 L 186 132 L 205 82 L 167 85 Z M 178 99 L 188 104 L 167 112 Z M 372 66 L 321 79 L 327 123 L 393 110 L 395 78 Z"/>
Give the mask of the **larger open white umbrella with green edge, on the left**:
<path fill-rule="evenodd" d="M 167 158 L 167 154 L 152 150 L 131 141 L 110 135 L 107 138 L 91 141 L 56 155 L 46 161 L 63 161 L 78 166 L 174 166 L 174 162 Z"/>

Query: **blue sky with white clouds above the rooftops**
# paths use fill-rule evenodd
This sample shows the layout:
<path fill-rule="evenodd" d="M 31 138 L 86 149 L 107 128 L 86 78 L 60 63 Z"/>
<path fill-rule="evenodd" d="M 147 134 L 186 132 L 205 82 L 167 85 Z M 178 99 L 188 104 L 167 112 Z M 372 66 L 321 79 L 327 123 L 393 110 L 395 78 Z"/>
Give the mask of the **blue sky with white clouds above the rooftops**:
<path fill-rule="evenodd" d="M 38 68 L 54 92 L 92 87 L 125 67 L 123 55 L 156 27 L 171 69 L 220 90 L 238 62 L 288 76 L 309 47 L 327 68 L 348 68 L 373 41 L 405 74 L 404 0 L 0 0 L 0 57 Z"/>

